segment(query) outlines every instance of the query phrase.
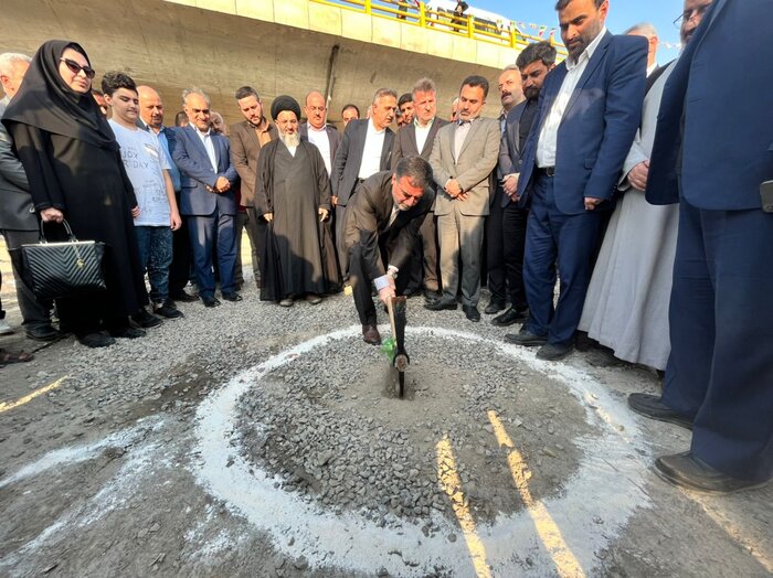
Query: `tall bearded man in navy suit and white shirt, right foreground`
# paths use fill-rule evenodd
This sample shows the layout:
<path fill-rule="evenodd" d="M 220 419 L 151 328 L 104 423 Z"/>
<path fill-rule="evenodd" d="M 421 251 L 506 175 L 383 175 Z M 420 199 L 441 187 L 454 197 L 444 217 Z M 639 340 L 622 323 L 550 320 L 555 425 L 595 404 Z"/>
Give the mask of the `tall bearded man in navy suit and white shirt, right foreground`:
<path fill-rule="evenodd" d="M 522 156 L 517 194 L 530 205 L 523 261 L 530 315 L 506 340 L 541 345 L 543 360 L 574 349 L 604 212 L 642 119 L 647 42 L 608 33 L 608 0 L 555 4 L 569 57 L 546 78 Z M 561 296 L 553 308 L 557 260 Z"/>

